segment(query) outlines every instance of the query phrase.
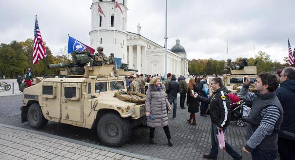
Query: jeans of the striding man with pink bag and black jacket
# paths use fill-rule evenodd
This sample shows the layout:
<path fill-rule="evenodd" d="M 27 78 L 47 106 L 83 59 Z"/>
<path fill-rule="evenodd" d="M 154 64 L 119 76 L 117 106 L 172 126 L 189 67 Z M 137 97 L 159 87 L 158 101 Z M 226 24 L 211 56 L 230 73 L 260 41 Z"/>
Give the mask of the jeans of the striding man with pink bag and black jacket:
<path fill-rule="evenodd" d="M 223 133 L 225 132 L 226 128 L 223 128 Z M 216 135 L 218 134 L 218 129 L 216 124 L 211 124 L 211 151 L 210 156 L 217 159 L 218 156 L 218 140 Z M 238 160 L 241 158 L 241 155 L 236 152 L 236 150 L 225 141 L 225 151 L 233 157 L 234 160 Z"/>

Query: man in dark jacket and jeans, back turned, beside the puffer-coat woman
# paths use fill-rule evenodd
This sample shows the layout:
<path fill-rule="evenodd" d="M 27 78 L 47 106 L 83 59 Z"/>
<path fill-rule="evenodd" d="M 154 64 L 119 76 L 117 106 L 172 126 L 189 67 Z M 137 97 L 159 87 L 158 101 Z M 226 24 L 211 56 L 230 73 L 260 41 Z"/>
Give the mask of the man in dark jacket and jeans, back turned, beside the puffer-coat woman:
<path fill-rule="evenodd" d="M 167 83 L 166 93 L 168 94 L 168 101 L 170 105 L 173 102 L 173 116 L 172 118 L 176 118 L 176 110 L 177 110 L 177 93 L 180 92 L 179 83 L 176 81 L 176 76 L 172 75 L 171 80 Z"/>

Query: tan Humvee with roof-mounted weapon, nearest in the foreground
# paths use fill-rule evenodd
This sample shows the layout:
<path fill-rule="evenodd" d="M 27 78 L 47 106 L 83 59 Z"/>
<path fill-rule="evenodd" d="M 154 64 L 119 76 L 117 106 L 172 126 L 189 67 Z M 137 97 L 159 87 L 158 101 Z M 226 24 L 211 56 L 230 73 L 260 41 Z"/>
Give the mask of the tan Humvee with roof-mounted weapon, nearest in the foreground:
<path fill-rule="evenodd" d="M 145 97 L 133 95 L 141 103 L 114 97 L 130 96 L 120 94 L 127 92 L 124 78 L 110 76 L 114 65 L 86 66 L 83 57 L 73 58 L 73 64 L 49 64 L 48 68 L 70 66 L 66 77 L 36 78 L 35 85 L 24 89 L 21 122 L 28 121 L 32 128 L 42 128 L 48 121 L 97 128 L 102 144 L 121 146 L 133 126 L 145 123 Z"/>

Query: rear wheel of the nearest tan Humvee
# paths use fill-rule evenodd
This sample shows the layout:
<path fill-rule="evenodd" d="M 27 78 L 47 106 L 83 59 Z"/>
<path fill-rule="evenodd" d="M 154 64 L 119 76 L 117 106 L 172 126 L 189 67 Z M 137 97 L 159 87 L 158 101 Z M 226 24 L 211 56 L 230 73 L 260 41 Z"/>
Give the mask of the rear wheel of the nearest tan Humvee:
<path fill-rule="evenodd" d="M 47 125 L 48 120 L 44 118 L 39 104 L 33 103 L 28 110 L 28 122 L 32 128 L 42 128 Z"/>

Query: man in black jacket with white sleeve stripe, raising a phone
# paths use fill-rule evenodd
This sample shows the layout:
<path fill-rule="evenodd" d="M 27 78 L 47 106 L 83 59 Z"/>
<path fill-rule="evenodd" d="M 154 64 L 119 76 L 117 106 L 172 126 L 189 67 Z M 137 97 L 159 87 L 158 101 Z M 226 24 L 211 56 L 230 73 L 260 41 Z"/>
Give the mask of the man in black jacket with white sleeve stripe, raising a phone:
<path fill-rule="evenodd" d="M 209 98 L 199 96 L 195 93 L 195 97 L 199 101 L 204 101 L 209 104 L 209 112 L 211 118 L 211 151 L 208 155 L 203 155 L 206 159 L 216 160 L 218 156 L 218 140 L 216 135 L 218 130 L 225 132 L 226 127 L 230 124 L 230 99 L 227 95 L 228 90 L 222 84 L 221 78 L 213 78 L 211 81 L 212 89 L 214 90 L 212 96 Z M 241 160 L 242 156 L 225 141 L 225 151 L 230 154 L 234 160 Z"/>

